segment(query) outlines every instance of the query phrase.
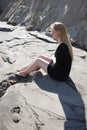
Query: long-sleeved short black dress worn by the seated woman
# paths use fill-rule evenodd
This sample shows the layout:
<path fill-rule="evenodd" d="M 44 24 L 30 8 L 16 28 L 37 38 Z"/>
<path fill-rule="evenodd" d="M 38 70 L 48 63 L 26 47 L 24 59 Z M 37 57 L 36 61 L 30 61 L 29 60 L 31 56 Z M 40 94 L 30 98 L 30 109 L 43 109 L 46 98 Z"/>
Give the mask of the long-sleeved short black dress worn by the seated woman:
<path fill-rule="evenodd" d="M 68 46 L 61 43 L 55 52 L 56 63 L 50 63 L 47 71 L 50 77 L 57 81 L 65 81 L 69 77 L 72 59 Z"/>

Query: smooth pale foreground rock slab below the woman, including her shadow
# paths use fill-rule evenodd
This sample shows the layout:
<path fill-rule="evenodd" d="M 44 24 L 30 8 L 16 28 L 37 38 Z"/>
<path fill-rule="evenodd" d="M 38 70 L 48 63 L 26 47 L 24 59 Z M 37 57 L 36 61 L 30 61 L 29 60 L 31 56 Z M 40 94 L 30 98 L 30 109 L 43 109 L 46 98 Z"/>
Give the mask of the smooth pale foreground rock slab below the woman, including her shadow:
<path fill-rule="evenodd" d="M 11 86 L 0 101 L 0 129 L 86 130 L 85 100 L 72 86 L 40 72 Z"/>

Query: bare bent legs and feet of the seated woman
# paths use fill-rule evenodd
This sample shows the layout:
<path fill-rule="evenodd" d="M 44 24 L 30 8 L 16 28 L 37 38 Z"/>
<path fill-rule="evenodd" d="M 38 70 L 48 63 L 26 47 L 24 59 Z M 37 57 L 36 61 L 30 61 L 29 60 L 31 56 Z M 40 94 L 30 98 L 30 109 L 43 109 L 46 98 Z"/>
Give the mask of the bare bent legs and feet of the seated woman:
<path fill-rule="evenodd" d="M 20 71 L 18 75 L 26 76 L 30 74 L 31 72 L 37 71 L 38 69 L 42 68 L 47 73 L 47 67 L 50 62 L 38 58 L 35 60 L 32 64 L 28 65 L 27 68 L 24 71 Z"/>

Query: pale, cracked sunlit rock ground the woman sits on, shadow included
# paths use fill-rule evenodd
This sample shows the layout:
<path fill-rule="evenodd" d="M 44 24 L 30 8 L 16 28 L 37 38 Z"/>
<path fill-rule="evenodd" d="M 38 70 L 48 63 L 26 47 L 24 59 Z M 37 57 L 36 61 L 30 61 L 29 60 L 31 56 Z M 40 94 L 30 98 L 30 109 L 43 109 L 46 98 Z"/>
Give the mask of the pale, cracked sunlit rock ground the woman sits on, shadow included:
<path fill-rule="evenodd" d="M 15 82 L 9 77 L 17 69 L 40 54 L 53 55 L 58 44 L 24 26 L 0 22 L 0 28 L 0 130 L 87 130 L 87 53 L 73 47 L 66 82 L 42 69 Z"/>

